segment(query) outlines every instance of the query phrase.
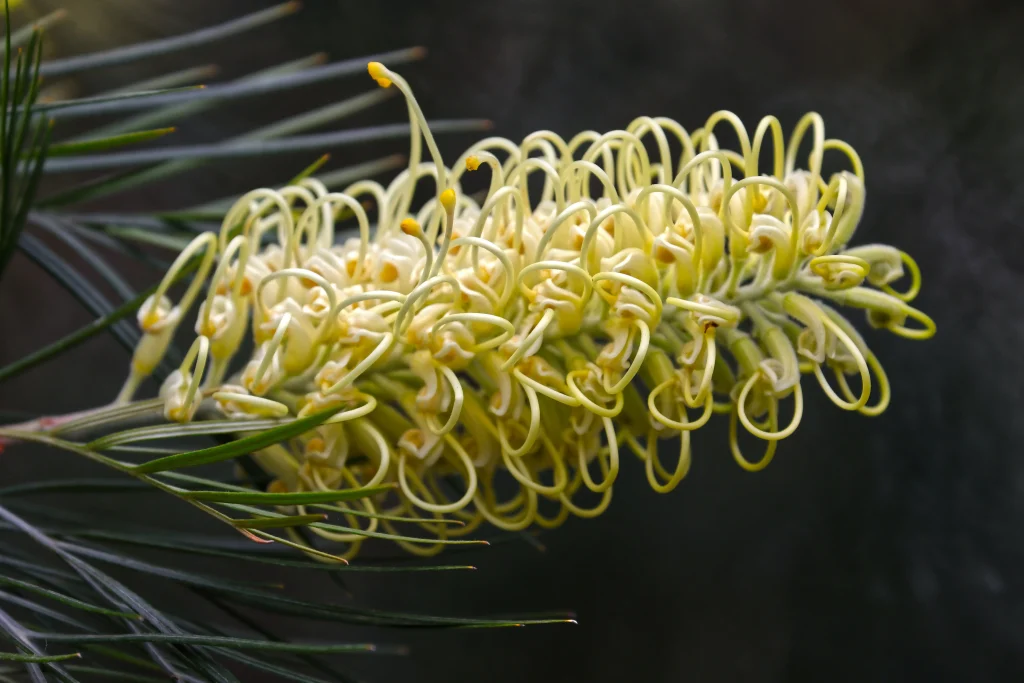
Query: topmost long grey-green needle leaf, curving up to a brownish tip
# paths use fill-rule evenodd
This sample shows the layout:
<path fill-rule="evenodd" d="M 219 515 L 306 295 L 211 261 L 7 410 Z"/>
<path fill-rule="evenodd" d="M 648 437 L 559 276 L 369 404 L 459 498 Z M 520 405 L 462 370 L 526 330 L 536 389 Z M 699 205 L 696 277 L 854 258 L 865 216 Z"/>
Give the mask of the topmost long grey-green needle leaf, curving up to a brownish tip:
<path fill-rule="evenodd" d="M 231 19 L 218 26 L 212 26 L 199 31 L 194 31 L 181 36 L 172 38 L 162 38 L 144 43 L 119 47 L 103 52 L 93 52 L 66 59 L 54 59 L 45 65 L 43 74 L 45 76 L 58 76 L 72 74 L 99 67 L 112 67 L 135 61 L 145 57 L 159 54 L 168 54 L 179 50 L 190 49 L 205 43 L 209 43 L 221 38 L 226 38 L 256 27 L 274 22 L 283 16 L 287 16 L 299 8 L 298 2 L 286 2 L 269 9 L 263 9 L 245 16 Z"/>

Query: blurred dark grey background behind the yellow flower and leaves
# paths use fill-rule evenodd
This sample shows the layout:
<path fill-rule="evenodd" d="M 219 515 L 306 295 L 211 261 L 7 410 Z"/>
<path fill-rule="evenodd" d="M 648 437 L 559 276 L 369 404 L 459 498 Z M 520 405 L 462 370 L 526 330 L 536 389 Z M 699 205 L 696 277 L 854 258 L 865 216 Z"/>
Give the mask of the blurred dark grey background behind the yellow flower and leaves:
<path fill-rule="evenodd" d="M 53 50 L 71 54 L 273 3 L 59 4 L 72 18 L 54 31 Z M 676 492 L 652 493 L 631 459 L 610 510 L 545 533 L 543 552 L 506 543 L 459 555 L 479 567 L 469 574 L 356 575 L 351 596 L 328 582 L 303 586 L 367 606 L 569 608 L 580 621 L 361 635 L 409 643 L 411 654 L 353 658 L 349 669 L 381 682 L 1024 680 L 1022 37 L 1024 3 L 982 0 L 307 0 L 287 20 L 168 59 L 215 61 L 230 77 L 319 50 L 340 59 L 424 45 L 428 58 L 400 71 L 427 116 L 489 118 L 515 140 L 540 128 L 566 137 L 621 128 L 643 114 L 692 130 L 719 109 L 751 126 L 774 114 L 788 130 L 817 111 L 826 134 L 864 162 L 857 242 L 904 249 L 924 272 L 918 305 L 938 324 L 935 339 L 866 334 L 893 385 L 885 415 L 848 415 L 809 391 L 804 424 L 760 474 L 735 466 L 715 424 L 695 439 Z M 74 85 L 87 94 L 104 83 Z M 372 87 L 359 74 L 246 101 L 188 122 L 178 141 L 216 139 Z M 392 100 L 357 122 L 403 117 Z M 453 160 L 471 141 L 449 136 L 441 147 Z M 332 164 L 403 146 L 339 150 Z M 118 208 L 241 194 L 309 161 L 218 164 Z M 157 276 L 132 274 L 140 285 Z M 87 319 L 18 259 L 0 288 L 0 360 Z M 126 365 L 113 341 L 96 339 L 4 384 L 0 402 L 86 408 L 116 393 Z M 0 472 L 40 467 L 16 460 L 4 458 Z M 352 633 L 290 626 L 297 636 Z"/>

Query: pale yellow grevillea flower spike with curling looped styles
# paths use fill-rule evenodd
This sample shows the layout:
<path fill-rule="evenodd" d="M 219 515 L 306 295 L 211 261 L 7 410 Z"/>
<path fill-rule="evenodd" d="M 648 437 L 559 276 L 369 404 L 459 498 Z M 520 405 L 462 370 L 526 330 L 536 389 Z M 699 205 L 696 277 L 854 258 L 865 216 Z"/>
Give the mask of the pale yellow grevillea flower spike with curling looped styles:
<path fill-rule="evenodd" d="M 482 521 L 523 529 L 595 516 L 624 453 L 644 462 L 655 490 L 672 490 L 690 468 L 691 432 L 715 413 L 728 416 L 735 461 L 760 470 L 804 417 L 805 375 L 843 410 L 873 416 L 889 403 L 882 365 L 840 307 L 909 339 L 935 332 L 909 305 L 913 259 L 849 246 L 864 172 L 816 114 L 787 142 L 774 117 L 751 136 L 728 112 L 693 133 L 641 117 L 568 141 L 490 137 L 450 168 L 406 81 L 380 63 L 369 71 L 406 95 L 409 168 L 387 187 L 332 193 L 305 179 L 240 199 L 220 234 L 197 238 L 168 273 L 199 259 L 183 297 L 162 286 L 141 307 L 121 396 L 157 366 L 207 284 L 197 342 L 161 390 L 166 417 L 191 419 L 204 396 L 239 421 L 341 408 L 255 456 L 275 490 L 395 484 L 364 502 L 364 531 L 415 519 L 443 541 Z M 719 146 L 723 124 L 737 151 Z M 829 151 L 850 169 L 824 178 Z M 489 174 L 482 204 L 461 189 L 474 171 Z M 434 196 L 414 208 L 425 178 Z M 341 212 L 358 237 L 336 240 Z M 893 289 L 904 275 L 907 290 Z M 255 352 L 228 377 L 247 331 Z M 757 457 L 740 427 L 764 442 Z M 663 441 L 678 450 L 672 466 Z M 365 515 L 348 511 L 353 524 Z M 465 525 L 446 526 L 447 514 Z M 349 553 L 365 538 L 313 530 Z"/>

